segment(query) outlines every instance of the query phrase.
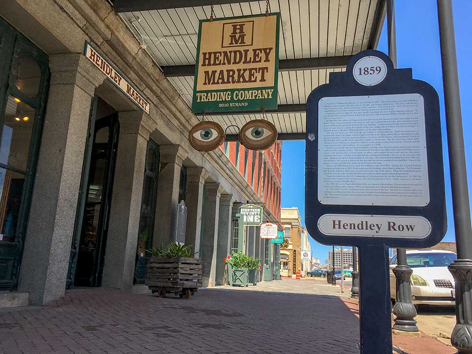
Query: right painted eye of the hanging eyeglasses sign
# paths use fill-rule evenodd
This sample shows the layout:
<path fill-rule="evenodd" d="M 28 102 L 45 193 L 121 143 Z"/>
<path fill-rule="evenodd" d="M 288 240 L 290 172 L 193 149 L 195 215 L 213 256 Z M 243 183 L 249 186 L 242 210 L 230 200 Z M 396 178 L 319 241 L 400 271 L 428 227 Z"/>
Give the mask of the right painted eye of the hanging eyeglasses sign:
<path fill-rule="evenodd" d="M 277 129 L 271 122 L 263 119 L 248 121 L 239 130 L 239 141 L 251 150 L 265 150 L 277 140 Z"/>

